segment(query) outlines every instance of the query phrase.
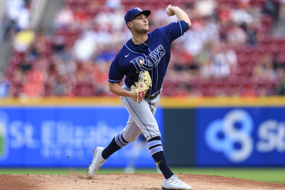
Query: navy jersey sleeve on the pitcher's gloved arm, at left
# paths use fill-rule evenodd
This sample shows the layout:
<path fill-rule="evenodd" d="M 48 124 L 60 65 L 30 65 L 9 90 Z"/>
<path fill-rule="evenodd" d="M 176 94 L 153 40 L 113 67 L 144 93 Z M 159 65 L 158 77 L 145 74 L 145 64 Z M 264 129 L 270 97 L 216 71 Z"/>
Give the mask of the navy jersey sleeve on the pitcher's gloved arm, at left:
<path fill-rule="evenodd" d="M 118 56 L 115 56 L 109 70 L 109 82 L 119 83 L 124 78 L 123 62 Z"/>

